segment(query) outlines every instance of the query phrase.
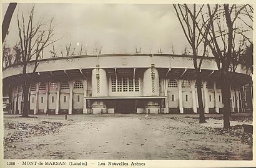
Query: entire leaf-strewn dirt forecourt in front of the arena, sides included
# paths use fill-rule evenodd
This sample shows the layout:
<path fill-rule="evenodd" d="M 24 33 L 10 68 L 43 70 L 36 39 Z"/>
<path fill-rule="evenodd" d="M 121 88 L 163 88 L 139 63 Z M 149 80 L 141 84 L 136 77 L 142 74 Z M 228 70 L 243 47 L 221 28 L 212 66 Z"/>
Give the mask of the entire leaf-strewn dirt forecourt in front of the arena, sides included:
<path fill-rule="evenodd" d="M 4 115 L 4 159 L 252 160 L 251 114 Z"/>

